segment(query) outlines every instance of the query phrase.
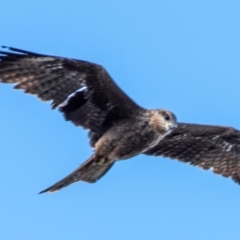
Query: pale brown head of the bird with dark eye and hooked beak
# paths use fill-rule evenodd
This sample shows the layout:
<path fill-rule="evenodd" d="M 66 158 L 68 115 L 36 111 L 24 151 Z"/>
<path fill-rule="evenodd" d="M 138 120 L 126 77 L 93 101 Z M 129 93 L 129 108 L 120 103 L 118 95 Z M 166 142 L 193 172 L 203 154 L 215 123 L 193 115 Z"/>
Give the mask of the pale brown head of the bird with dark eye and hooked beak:
<path fill-rule="evenodd" d="M 172 132 L 177 127 L 177 118 L 174 113 L 158 109 L 151 111 L 151 124 L 164 136 Z"/>

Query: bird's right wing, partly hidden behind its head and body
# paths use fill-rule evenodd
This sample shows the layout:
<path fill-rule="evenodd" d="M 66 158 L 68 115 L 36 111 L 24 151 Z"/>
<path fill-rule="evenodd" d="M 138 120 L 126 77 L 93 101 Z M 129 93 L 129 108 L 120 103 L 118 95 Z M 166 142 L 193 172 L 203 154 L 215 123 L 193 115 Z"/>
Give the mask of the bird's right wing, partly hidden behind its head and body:
<path fill-rule="evenodd" d="M 211 168 L 240 184 L 240 132 L 234 128 L 179 123 L 177 129 L 145 154 Z"/>

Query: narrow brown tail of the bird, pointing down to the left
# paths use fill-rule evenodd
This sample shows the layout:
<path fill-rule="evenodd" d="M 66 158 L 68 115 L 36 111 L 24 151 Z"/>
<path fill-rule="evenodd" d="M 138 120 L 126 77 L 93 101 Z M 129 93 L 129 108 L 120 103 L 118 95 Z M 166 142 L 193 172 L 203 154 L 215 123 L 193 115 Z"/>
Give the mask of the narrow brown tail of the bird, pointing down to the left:
<path fill-rule="evenodd" d="M 107 162 L 104 158 L 99 159 L 99 157 L 96 157 L 96 155 L 93 154 L 75 171 L 52 186 L 44 189 L 40 193 L 55 192 L 77 181 L 94 183 L 100 179 L 112 167 L 113 164 L 114 162 Z"/>

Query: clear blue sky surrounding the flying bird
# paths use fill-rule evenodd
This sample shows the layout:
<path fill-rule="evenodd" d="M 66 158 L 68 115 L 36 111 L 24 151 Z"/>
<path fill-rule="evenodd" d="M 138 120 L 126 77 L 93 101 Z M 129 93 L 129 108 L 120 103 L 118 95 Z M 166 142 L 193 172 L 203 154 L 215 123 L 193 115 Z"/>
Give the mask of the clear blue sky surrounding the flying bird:
<path fill-rule="evenodd" d="M 102 64 L 144 107 L 240 129 L 240 1 L 1 2 L 0 44 Z M 161 157 L 37 193 L 89 157 L 87 132 L 0 85 L 0 239 L 238 239 L 240 186 Z"/>

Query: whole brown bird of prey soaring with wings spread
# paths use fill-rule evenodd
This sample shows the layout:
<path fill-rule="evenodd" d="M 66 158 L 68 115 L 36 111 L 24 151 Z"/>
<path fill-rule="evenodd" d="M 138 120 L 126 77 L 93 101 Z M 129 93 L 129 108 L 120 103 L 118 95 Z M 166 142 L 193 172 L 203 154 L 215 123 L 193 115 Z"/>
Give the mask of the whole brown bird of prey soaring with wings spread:
<path fill-rule="evenodd" d="M 117 160 L 138 154 L 169 157 L 212 169 L 240 183 L 240 132 L 231 127 L 177 123 L 162 109 L 130 99 L 98 64 L 33 53 L 0 51 L 0 81 L 50 101 L 68 121 L 89 130 L 93 155 L 71 174 L 41 191 L 100 179 Z"/>

